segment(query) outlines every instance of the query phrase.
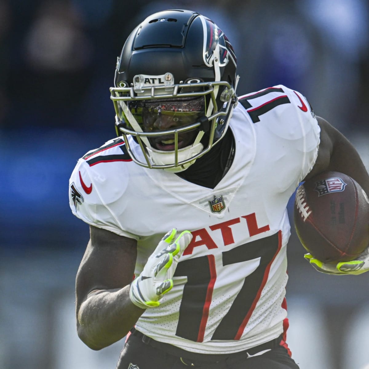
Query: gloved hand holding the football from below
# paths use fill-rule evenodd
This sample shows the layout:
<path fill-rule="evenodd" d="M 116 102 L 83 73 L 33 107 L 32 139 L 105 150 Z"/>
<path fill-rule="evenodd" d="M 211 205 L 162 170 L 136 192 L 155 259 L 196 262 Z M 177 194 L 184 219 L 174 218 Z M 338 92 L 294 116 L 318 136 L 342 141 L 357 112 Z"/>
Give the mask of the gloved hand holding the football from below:
<path fill-rule="evenodd" d="M 369 247 L 366 248 L 355 260 L 341 261 L 337 264 L 323 263 L 315 259 L 311 254 L 305 254 L 304 258 L 318 272 L 333 274 L 333 275 L 359 275 L 369 270 Z"/>

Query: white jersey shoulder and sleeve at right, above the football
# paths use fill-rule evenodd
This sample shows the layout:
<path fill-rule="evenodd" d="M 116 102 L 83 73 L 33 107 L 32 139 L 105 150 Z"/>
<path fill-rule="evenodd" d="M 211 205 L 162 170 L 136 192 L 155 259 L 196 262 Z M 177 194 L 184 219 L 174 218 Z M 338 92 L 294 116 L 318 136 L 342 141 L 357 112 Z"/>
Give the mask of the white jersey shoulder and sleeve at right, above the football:
<path fill-rule="evenodd" d="M 277 192 L 294 190 L 313 168 L 320 127 L 306 98 L 283 85 L 240 97 L 256 137 L 254 165 Z"/>

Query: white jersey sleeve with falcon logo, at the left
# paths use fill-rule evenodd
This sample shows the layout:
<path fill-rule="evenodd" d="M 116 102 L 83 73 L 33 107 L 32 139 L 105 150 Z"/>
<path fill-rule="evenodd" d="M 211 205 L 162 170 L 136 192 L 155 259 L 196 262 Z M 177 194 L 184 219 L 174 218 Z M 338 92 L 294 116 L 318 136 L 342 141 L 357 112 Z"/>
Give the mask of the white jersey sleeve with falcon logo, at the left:
<path fill-rule="evenodd" d="M 94 227 L 139 239 L 138 235 L 124 230 L 110 206 L 111 201 L 103 199 L 101 192 L 107 192 L 104 191 L 106 182 L 103 175 L 97 175 L 83 158 L 79 159 L 69 180 L 69 206 L 73 215 Z"/>

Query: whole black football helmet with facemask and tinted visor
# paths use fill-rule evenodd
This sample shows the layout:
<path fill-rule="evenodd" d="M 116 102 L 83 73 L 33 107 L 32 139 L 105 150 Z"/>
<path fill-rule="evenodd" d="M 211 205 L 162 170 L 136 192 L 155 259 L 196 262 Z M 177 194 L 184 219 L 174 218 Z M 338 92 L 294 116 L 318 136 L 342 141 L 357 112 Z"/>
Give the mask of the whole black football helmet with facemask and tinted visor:
<path fill-rule="evenodd" d="M 213 21 L 189 10 L 147 17 L 127 38 L 110 88 L 117 134 L 132 160 L 188 168 L 223 138 L 237 82 L 232 45 Z"/>

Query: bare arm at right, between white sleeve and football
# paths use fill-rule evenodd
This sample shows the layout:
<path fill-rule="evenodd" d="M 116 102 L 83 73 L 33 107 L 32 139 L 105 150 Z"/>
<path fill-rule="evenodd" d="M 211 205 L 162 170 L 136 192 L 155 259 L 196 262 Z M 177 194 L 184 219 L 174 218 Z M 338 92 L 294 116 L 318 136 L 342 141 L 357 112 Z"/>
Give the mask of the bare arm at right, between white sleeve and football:
<path fill-rule="evenodd" d="M 354 178 L 369 194 L 369 175 L 355 147 L 326 120 L 320 117 L 317 120 L 321 130 L 318 157 L 304 180 L 321 172 L 341 172 Z"/>

